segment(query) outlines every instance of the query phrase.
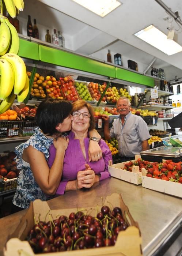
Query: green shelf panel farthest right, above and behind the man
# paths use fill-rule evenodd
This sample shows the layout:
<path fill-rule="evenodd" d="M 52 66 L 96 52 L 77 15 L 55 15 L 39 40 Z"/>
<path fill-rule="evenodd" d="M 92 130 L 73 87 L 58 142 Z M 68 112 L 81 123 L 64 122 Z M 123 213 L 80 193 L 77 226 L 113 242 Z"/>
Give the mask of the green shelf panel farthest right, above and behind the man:
<path fill-rule="evenodd" d="M 145 86 L 154 87 L 154 79 L 149 76 L 137 74 L 136 72 L 132 72 L 122 68 L 115 68 L 115 76 L 117 79 L 125 80 L 132 83 L 143 84 Z"/>

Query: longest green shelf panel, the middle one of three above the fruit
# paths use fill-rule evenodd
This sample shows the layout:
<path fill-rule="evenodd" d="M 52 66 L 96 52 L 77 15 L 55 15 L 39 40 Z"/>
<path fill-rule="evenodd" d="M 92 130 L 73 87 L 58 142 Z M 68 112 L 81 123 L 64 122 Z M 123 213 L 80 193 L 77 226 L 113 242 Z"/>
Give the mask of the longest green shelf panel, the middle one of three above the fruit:
<path fill-rule="evenodd" d="M 107 77 L 115 77 L 115 67 L 74 53 L 39 45 L 40 60 L 62 67 L 73 68 Z"/>

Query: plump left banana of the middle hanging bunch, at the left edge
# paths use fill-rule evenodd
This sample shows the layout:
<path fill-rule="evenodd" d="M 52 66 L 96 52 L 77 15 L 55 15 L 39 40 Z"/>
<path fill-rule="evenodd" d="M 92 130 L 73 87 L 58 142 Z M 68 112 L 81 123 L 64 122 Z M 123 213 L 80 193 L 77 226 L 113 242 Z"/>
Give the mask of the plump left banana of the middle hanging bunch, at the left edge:
<path fill-rule="evenodd" d="M 0 18 L 0 22 L 0 55 L 4 55 L 9 48 L 11 34 L 8 25 L 5 23 L 5 19 Z"/>

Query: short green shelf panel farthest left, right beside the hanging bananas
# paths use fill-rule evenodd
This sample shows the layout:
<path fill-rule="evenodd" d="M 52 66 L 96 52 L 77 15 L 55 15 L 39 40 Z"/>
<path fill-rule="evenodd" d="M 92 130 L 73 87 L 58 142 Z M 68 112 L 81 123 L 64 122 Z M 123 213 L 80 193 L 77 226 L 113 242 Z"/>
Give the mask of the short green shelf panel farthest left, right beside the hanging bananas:
<path fill-rule="evenodd" d="M 20 47 L 18 55 L 22 58 L 39 60 L 39 46 L 34 42 L 30 42 L 24 39 L 20 40 Z"/>

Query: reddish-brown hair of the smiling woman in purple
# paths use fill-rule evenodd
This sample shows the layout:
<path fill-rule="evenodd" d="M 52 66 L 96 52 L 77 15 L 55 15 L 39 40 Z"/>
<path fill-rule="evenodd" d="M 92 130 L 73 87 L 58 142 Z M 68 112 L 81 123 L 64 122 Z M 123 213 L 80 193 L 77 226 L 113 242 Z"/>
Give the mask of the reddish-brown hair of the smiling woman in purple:
<path fill-rule="evenodd" d="M 88 109 L 88 112 L 90 113 L 90 127 L 88 128 L 88 130 L 89 131 L 93 130 L 95 128 L 94 110 L 89 103 L 87 103 L 86 101 L 83 101 L 81 99 L 73 102 L 73 109 L 72 109 L 71 114 L 74 111 L 78 111 L 78 110 L 82 109 L 83 107 L 86 107 Z"/>

